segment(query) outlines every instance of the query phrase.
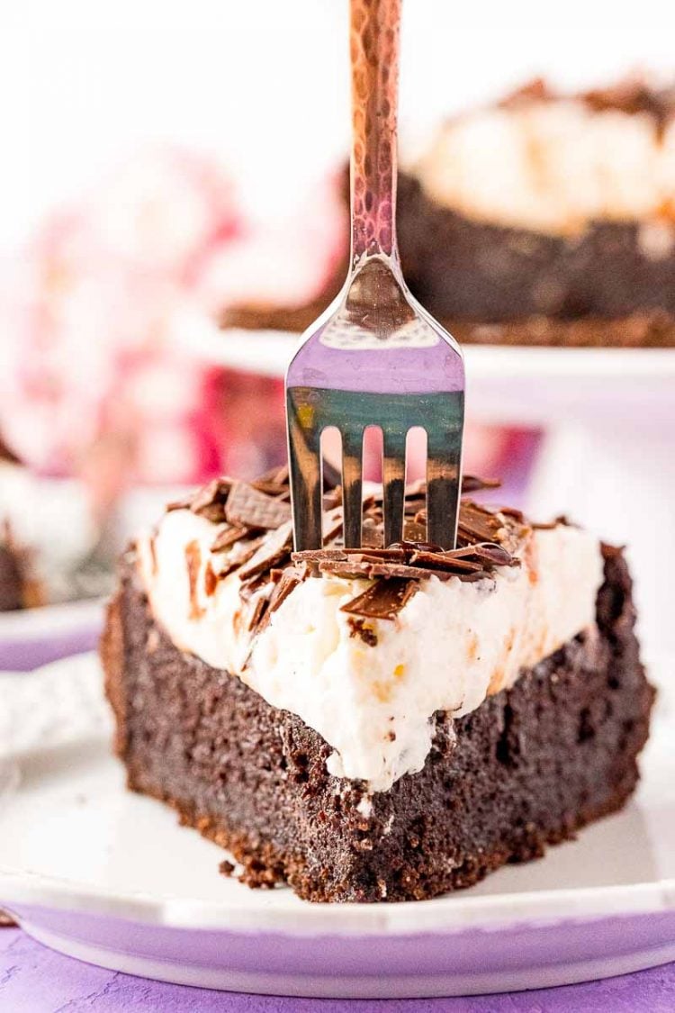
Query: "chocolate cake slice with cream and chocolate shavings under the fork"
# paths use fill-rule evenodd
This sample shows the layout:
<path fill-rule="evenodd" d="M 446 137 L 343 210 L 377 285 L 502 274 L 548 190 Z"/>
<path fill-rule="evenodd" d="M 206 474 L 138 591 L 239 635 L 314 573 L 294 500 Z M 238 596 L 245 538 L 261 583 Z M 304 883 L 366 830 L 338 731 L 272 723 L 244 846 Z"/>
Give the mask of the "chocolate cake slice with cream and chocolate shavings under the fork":
<path fill-rule="evenodd" d="M 293 555 L 285 473 L 224 479 L 125 554 L 102 658 L 130 787 L 314 901 L 469 886 L 619 808 L 653 699 L 621 552 L 469 498 L 442 552 L 423 487 L 405 542 L 372 496 L 345 550 L 326 505 Z"/>

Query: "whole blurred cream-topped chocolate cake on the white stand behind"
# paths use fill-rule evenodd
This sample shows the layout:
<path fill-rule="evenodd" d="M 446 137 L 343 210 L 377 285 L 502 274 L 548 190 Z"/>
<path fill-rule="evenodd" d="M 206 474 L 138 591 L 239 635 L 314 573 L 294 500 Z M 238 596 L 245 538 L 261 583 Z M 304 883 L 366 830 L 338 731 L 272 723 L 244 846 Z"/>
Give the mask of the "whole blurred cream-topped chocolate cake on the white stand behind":
<path fill-rule="evenodd" d="M 411 290 L 462 341 L 675 344 L 675 89 L 534 81 L 453 118 L 401 175 L 398 229 Z M 341 281 L 223 323 L 302 329 Z"/>

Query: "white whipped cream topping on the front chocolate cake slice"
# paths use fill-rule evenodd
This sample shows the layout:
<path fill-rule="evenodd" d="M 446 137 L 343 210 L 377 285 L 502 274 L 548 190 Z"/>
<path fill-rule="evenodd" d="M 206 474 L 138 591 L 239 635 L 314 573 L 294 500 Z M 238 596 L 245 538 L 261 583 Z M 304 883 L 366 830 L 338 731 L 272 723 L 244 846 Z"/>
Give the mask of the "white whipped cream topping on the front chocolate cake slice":
<path fill-rule="evenodd" d="M 301 717 L 333 747 L 329 772 L 362 779 L 369 792 L 422 769 L 435 711 L 469 713 L 593 627 L 602 580 L 597 539 L 558 525 L 531 532 L 521 565 L 494 578 L 421 581 L 396 619 L 368 620 L 370 642 L 340 611 L 369 581 L 333 574 L 299 583 L 252 637 L 256 600 L 269 588 L 243 600 L 237 570 L 214 581 L 232 557 L 213 543 L 214 525 L 188 510 L 166 514 L 139 541 L 156 620 L 177 647 Z"/>

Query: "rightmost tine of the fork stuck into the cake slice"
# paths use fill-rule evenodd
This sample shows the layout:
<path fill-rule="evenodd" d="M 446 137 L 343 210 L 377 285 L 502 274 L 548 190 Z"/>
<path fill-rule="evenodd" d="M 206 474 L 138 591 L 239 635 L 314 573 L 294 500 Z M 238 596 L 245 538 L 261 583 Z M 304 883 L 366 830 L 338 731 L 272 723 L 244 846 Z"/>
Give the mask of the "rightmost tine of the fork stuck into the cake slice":
<path fill-rule="evenodd" d="M 461 430 L 427 438 L 427 540 L 453 549 L 457 539 Z"/>

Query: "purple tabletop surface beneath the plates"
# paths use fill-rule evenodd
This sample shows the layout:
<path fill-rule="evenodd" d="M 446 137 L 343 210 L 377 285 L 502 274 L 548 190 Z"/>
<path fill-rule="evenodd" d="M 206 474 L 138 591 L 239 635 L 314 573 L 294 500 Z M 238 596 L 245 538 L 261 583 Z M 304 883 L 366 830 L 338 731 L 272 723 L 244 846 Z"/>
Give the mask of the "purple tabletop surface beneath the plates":
<path fill-rule="evenodd" d="M 96 630 L 89 625 L 67 637 L 23 646 L 0 640 L 0 669 L 27 670 L 69 651 L 87 650 Z M 29 678 L 29 677 L 28 677 Z M 122 1013 L 138 1010 L 182 1013 L 183 1010 L 233 1013 L 365 1013 L 385 1009 L 398 1013 L 673 1013 L 675 963 L 604 982 L 537 992 L 468 999 L 372 1000 L 284 999 L 235 995 L 149 982 L 103 970 L 62 956 L 33 942 L 15 928 L 0 929 L 0 1010 L 2 1013 Z"/>

